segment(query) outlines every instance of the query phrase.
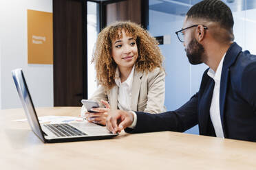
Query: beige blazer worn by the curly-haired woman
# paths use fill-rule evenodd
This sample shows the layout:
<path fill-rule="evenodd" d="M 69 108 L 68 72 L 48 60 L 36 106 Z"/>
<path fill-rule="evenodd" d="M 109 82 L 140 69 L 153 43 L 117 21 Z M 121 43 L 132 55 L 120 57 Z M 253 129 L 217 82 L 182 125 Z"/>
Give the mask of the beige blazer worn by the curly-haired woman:
<path fill-rule="evenodd" d="M 131 93 L 131 110 L 139 112 L 160 113 L 166 111 L 164 107 L 165 73 L 159 68 L 149 73 L 134 71 L 134 81 Z M 89 100 L 97 101 L 101 107 L 100 99 L 109 101 L 111 109 L 118 109 L 118 86 L 114 86 L 107 93 L 102 86 Z"/>

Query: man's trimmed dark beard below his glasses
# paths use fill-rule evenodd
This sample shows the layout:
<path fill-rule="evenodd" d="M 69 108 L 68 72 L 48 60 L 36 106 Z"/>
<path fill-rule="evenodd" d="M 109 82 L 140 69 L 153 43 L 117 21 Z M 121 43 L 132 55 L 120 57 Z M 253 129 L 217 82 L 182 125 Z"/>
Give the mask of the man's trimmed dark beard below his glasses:
<path fill-rule="evenodd" d="M 193 38 L 189 42 L 189 47 L 185 49 L 186 56 L 189 58 L 189 62 L 193 65 L 202 63 L 202 56 L 204 55 L 204 47 Z"/>

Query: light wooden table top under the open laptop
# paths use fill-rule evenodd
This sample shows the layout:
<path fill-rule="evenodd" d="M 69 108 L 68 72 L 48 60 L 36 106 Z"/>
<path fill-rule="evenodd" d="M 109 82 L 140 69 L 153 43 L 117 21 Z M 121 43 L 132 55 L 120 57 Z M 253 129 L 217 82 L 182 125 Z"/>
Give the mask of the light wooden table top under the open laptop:
<path fill-rule="evenodd" d="M 77 116 L 80 108 L 36 108 L 39 116 Z M 23 109 L 0 111 L 1 169 L 256 169 L 256 143 L 154 132 L 44 144 Z"/>

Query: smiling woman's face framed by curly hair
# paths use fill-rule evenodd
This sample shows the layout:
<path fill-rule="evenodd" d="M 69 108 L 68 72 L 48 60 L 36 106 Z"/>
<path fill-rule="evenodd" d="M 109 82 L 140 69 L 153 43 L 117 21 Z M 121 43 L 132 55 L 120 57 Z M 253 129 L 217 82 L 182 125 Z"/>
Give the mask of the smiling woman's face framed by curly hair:
<path fill-rule="evenodd" d="M 119 69 L 129 69 L 138 58 L 136 40 L 122 30 L 122 38 L 112 41 L 112 56 Z"/>

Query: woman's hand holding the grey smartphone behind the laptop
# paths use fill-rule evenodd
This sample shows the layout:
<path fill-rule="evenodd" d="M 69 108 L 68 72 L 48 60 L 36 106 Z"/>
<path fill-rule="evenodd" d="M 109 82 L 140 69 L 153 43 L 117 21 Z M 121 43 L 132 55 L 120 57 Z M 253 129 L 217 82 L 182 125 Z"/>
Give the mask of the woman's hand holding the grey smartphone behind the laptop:
<path fill-rule="evenodd" d="M 105 100 L 100 100 L 100 102 L 104 104 L 105 108 L 92 108 L 91 110 L 94 112 L 85 112 L 85 117 L 89 122 L 106 125 L 106 119 L 110 106 Z"/>

